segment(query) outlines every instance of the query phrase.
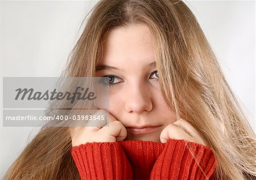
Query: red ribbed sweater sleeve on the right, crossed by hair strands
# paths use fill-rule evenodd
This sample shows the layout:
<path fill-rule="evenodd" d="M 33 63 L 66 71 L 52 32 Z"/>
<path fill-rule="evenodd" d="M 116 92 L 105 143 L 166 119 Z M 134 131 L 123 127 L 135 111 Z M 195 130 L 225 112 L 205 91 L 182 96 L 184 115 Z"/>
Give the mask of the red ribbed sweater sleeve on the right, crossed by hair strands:
<path fill-rule="evenodd" d="M 150 179 L 209 179 L 215 168 L 216 160 L 209 147 L 169 139 L 154 164 Z"/>

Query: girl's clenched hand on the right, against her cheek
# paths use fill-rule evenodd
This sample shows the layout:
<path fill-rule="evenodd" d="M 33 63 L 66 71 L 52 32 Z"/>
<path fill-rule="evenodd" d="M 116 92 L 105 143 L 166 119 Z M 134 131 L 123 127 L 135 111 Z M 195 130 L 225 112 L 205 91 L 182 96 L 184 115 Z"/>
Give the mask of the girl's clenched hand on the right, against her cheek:
<path fill-rule="evenodd" d="M 184 119 L 178 119 L 163 129 L 160 142 L 167 143 L 168 139 L 185 139 L 189 142 L 207 145 L 195 128 Z"/>

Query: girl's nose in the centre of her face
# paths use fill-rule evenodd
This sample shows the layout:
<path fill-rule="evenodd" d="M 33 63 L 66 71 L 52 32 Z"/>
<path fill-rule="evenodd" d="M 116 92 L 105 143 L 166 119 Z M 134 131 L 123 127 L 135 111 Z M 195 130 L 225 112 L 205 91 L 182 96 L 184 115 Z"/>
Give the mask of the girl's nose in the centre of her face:
<path fill-rule="evenodd" d="M 143 85 L 130 85 L 125 92 L 125 110 L 129 113 L 150 112 L 152 96 L 149 89 Z"/>

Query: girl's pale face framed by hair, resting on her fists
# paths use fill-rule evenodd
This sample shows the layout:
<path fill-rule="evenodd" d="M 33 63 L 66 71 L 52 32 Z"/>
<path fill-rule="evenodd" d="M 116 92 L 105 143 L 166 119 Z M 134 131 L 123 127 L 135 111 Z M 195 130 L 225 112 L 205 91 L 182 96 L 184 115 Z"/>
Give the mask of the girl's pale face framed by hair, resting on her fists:
<path fill-rule="evenodd" d="M 150 29 L 144 24 L 112 29 L 96 76 L 109 76 L 109 113 L 126 127 L 126 140 L 160 142 L 176 115 L 164 102 Z"/>

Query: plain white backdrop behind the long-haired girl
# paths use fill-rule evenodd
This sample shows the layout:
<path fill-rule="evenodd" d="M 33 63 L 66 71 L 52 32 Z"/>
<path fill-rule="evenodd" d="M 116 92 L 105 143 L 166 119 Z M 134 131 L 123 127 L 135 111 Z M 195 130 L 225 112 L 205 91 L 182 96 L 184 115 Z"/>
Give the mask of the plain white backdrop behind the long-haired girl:
<path fill-rule="evenodd" d="M 1 1 L 2 76 L 59 76 L 93 1 Z M 254 1 L 187 1 L 216 53 L 226 79 L 255 127 Z M 1 78 L 2 101 L 2 78 Z M 2 109 L 2 103 L 0 105 Z M 0 178 L 38 132 L 2 127 Z"/>

